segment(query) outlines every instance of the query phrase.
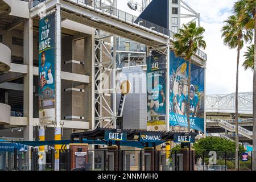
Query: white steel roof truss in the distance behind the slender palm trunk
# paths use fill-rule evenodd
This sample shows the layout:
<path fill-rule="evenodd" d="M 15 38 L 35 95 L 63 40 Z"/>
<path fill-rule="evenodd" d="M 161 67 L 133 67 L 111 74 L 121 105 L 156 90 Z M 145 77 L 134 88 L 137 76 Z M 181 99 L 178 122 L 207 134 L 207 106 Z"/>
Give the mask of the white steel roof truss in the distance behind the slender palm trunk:
<path fill-rule="evenodd" d="M 236 94 L 208 95 L 206 97 L 206 110 L 211 113 L 235 113 Z M 253 93 L 238 93 L 238 113 L 253 114 Z"/>

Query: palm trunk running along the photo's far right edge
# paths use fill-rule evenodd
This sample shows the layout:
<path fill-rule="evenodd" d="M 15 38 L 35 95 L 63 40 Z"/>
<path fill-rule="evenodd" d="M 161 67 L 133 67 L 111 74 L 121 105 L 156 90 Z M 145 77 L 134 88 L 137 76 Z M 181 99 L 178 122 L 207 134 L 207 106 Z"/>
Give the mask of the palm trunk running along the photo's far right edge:
<path fill-rule="evenodd" d="M 254 12 L 256 13 L 256 7 Z M 253 68 L 253 171 L 256 171 L 256 14 L 254 13 L 254 68 Z"/>

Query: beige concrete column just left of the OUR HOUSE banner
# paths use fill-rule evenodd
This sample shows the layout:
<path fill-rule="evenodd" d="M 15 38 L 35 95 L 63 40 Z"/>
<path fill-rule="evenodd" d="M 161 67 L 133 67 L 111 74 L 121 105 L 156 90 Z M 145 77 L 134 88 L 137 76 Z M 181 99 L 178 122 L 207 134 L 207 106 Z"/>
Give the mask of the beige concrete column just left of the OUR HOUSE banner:
<path fill-rule="evenodd" d="M 27 65 L 27 74 L 24 75 L 23 111 L 27 117 L 27 126 L 24 127 L 24 140 L 33 140 L 33 19 L 24 20 L 23 29 L 23 58 Z"/>

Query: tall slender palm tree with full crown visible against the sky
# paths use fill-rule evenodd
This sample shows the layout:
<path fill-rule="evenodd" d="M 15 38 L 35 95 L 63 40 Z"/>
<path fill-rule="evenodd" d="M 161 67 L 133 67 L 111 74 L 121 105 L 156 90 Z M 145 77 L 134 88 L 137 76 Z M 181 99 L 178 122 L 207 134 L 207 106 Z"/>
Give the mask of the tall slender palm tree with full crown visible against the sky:
<path fill-rule="evenodd" d="M 246 30 L 245 27 L 239 23 L 238 15 L 229 16 L 224 21 L 225 25 L 222 27 L 222 35 L 224 38 L 223 42 L 230 49 L 237 48 L 237 74 L 236 74 L 236 169 L 238 169 L 238 150 L 239 150 L 239 139 L 238 139 L 238 68 L 240 59 L 240 50 L 243 47 L 243 43 L 251 42 L 253 39 L 253 31 Z"/>

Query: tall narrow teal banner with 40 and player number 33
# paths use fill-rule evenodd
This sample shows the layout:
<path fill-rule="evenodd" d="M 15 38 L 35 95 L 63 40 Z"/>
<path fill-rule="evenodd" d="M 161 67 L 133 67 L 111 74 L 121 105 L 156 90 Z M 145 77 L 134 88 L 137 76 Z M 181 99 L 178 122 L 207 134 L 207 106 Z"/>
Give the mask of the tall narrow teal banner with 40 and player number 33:
<path fill-rule="evenodd" d="M 147 57 L 147 130 L 166 131 L 166 55 Z"/>

